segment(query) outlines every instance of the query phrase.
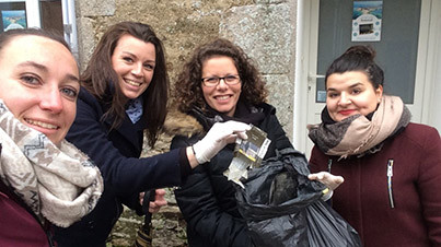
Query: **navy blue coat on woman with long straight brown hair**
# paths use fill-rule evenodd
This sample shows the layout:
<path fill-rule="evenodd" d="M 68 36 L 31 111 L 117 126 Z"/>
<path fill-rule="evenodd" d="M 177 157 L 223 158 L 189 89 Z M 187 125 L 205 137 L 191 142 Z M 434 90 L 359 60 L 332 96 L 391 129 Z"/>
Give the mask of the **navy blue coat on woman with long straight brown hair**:
<path fill-rule="evenodd" d="M 132 124 L 128 116 L 112 130 L 101 121 L 105 108 L 83 87 L 77 103 L 77 117 L 67 140 L 86 153 L 104 177 L 104 192 L 96 208 L 68 228 L 56 228 L 55 238 L 65 246 L 105 246 L 123 203 L 139 209 L 139 192 L 181 184 L 178 150 L 139 158 L 146 122 Z"/>

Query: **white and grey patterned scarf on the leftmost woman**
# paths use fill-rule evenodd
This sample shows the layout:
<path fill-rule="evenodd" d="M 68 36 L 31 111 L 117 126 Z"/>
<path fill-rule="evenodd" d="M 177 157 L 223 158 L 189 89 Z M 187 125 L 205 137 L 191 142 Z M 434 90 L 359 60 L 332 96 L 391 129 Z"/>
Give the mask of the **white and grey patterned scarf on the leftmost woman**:
<path fill-rule="evenodd" d="M 96 166 L 63 140 L 59 146 L 20 122 L 0 99 L 0 179 L 36 214 L 68 227 L 92 211 L 103 191 Z"/>

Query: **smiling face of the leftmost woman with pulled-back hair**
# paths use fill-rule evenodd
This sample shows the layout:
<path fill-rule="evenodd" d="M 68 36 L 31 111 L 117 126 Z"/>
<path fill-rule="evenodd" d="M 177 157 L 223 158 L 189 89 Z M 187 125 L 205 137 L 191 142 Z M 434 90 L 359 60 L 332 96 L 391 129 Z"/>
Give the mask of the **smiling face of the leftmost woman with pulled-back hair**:
<path fill-rule="evenodd" d="M 77 62 L 60 43 L 22 35 L 0 50 L 0 98 L 21 122 L 55 144 L 76 118 L 79 91 Z"/>

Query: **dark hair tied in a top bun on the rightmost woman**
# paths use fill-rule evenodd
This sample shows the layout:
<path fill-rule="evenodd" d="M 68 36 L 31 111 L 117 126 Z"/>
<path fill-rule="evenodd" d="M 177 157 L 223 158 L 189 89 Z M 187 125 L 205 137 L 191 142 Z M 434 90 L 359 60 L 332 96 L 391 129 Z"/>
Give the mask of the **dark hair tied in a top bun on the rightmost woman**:
<path fill-rule="evenodd" d="M 344 73 L 348 71 L 364 72 L 373 87 L 376 90 L 384 82 L 384 72 L 375 63 L 375 50 L 371 46 L 351 46 L 340 57 L 335 59 L 326 71 L 327 78 L 333 73 Z"/>

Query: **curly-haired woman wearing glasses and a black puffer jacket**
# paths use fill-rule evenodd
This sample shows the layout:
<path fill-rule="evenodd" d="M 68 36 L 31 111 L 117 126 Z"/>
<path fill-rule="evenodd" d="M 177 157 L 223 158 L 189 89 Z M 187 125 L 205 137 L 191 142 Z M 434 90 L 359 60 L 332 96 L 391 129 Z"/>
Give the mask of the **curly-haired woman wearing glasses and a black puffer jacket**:
<path fill-rule="evenodd" d="M 174 91 L 177 110 L 165 128 L 175 134 L 172 149 L 188 146 L 204 137 L 214 122 L 236 120 L 257 126 L 276 149 L 291 148 L 275 113 L 266 104 L 267 90 L 259 72 L 243 50 L 225 39 L 198 47 L 184 66 Z M 223 175 L 233 157 L 234 144 L 195 168 L 175 190 L 187 222 L 190 246 L 252 246 L 245 221 L 237 211 L 234 186 Z"/>

